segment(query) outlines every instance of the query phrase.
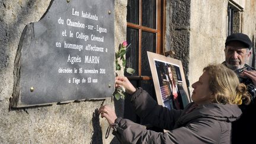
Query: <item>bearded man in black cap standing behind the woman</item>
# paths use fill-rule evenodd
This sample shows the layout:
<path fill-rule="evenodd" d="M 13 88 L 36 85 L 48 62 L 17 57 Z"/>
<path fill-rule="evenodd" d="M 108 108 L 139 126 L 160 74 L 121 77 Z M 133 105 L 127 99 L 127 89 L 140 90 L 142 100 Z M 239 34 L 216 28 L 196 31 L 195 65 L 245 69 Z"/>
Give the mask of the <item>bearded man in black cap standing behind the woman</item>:
<path fill-rule="evenodd" d="M 231 34 L 225 43 L 223 64 L 235 71 L 239 81 L 247 85 L 247 91 L 252 96 L 251 104 L 240 105 L 243 114 L 232 123 L 232 143 L 256 143 L 256 71 L 245 63 L 252 53 L 251 44 L 249 37 L 243 33 Z"/>

